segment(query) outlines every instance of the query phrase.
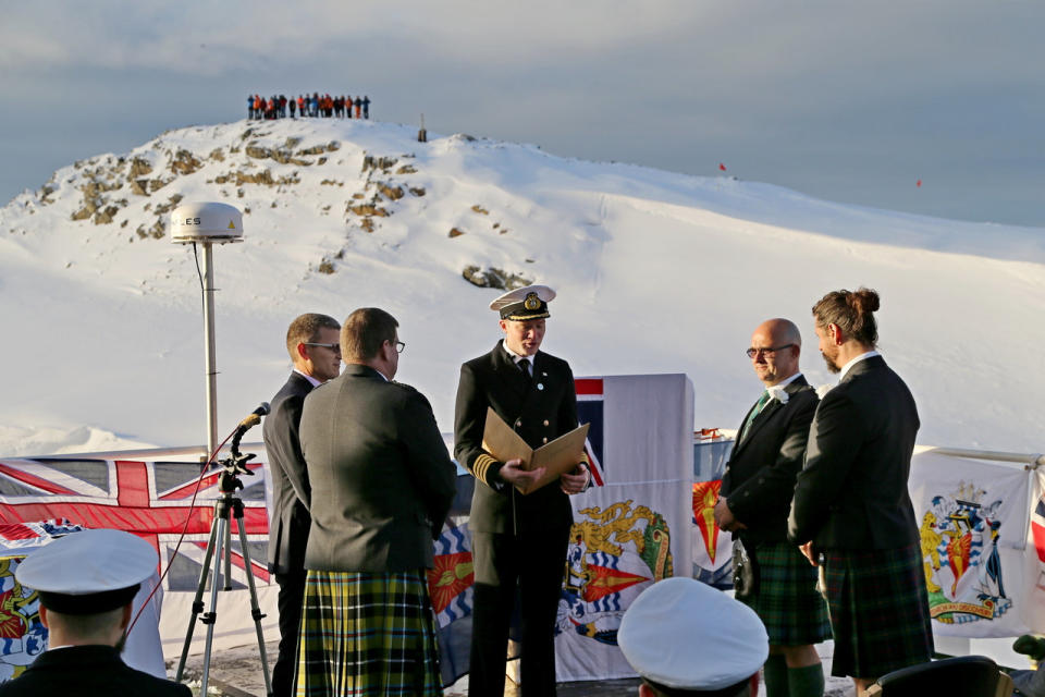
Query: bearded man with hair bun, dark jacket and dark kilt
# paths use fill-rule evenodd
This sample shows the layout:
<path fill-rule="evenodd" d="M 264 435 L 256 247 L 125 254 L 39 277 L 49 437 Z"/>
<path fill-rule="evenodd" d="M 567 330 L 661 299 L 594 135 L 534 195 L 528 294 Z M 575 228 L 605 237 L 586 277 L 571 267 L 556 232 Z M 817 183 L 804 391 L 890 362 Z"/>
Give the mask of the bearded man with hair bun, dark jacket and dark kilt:
<path fill-rule="evenodd" d="M 835 636 L 832 674 L 859 695 L 933 655 L 925 576 L 907 480 L 918 433 L 910 390 L 874 350 L 872 290 L 813 306 L 820 352 L 841 380 L 813 417 L 788 538 L 822 566 Z"/>

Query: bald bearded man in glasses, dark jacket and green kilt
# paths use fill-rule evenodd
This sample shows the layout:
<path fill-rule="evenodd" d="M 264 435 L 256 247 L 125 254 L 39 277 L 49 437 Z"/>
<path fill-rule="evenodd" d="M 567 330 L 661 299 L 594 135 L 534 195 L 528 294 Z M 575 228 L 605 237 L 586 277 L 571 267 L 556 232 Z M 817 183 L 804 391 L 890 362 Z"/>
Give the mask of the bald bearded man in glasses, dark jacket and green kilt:
<path fill-rule="evenodd" d="M 798 368 L 802 338 L 786 319 L 754 330 L 748 356 L 765 391 L 751 407 L 726 463 L 715 522 L 734 534 L 758 578 L 737 599 L 765 624 L 770 656 L 763 667 L 767 697 L 822 697 L 824 672 L 815 644 L 831 637 L 816 571 L 787 541 L 795 477 L 802 468 L 816 392 Z"/>

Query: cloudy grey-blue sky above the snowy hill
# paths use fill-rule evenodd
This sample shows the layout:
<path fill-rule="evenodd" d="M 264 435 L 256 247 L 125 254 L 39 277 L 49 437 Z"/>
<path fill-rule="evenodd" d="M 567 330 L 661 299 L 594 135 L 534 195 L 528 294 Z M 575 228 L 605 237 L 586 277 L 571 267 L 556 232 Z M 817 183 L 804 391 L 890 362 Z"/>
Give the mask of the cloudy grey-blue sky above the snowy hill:
<path fill-rule="evenodd" d="M 1043 3 L 0 8 L 0 203 L 73 160 L 243 119 L 248 94 L 320 91 L 433 133 L 1045 227 Z"/>

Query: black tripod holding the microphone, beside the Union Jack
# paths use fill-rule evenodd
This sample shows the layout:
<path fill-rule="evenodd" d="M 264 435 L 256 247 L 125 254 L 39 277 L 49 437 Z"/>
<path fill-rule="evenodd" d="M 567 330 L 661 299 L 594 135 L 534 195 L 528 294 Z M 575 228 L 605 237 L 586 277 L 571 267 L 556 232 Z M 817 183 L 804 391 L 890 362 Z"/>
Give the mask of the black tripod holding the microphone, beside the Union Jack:
<path fill-rule="evenodd" d="M 246 429 L 243 429 L 244 431 Z M 221 497 L 214 502 L 214 516 L 210 524 L 210 538 L 207 541 L 207 552 L 204 555 L 204 567 L 199 574 L 199 586 L 196 588 L 196 598 L 193 600 L 193 615 L 188 621 L 188 631 L 185 633 L 185 645 L 182 647 L 182 658 L 177 663 L 175 682 L 182 682 L 185 670 L 185 660 L 188 658 L 188 648 L 193 641 L 193 632 L 196 628 L 196 617 L 204 612 L 204 590 L 207 587 L 207 574 L 211 562 L 217 559 L 214 575 L 210 584 L 210 612 L 204 613 L 201 621 L 207 625 L 207 643 L 204 650 L 204 676 L 199 694 L 207 694 L 207 683 L 210 677 L 210 651 L 214 638 L 214 622 L 218 620 L 218 585 L 221 577 L 221 565 L 224 563 L 224 590 L 232 590 L 232 526 L 231 517 L 236 519 L 236 529 L 239 530 L 239 548 L 243 550 L 243 565 L 247 572 L 247 586 L 250 588 L 250 616 L 258 633 L 258 649 L 261 653 L 261 673 L 265 675 L 265 694 L 272 695 L 272 683 L 269 676 L 269 661 L 265 655 L 265 635 L 261 632 L 261 619 L 266 615 L 258 606 L 258 591 L 254 585 L 254 573 L 250 566 L 250 551 L 247 547 L 247 533 L 243 524 L 243 500 L 235 496 L 237 489 L 243 489 L 239 481 L 241 474 L 254 473 L 243 465 L 254 457 L 253 453 L 239 453 L 239 438 L 243 432 L 236 431 L 232 439 L 232 455 L 221 461 L 224 472 L 221 474 L 218 490 Z M 222 555 L 224 552 L 224 555 Z"/>

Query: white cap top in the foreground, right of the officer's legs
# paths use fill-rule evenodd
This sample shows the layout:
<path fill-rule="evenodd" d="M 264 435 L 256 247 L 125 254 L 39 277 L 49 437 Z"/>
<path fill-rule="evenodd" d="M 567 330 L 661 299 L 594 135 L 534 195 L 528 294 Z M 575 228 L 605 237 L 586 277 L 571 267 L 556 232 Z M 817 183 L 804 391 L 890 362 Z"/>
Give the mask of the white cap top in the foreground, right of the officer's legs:
<path fill-rule="evenodd" d="M 716 690 L 745 681 L 770 652 L 751 608 L 692 578 L 665 578 L 624 613 L 617 644 L 642 677 L 672 688 Z"/>

